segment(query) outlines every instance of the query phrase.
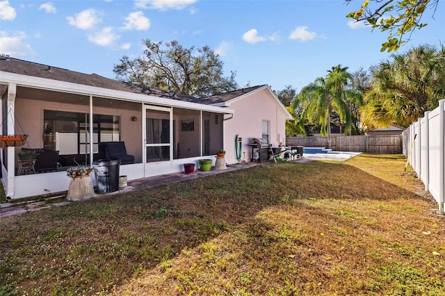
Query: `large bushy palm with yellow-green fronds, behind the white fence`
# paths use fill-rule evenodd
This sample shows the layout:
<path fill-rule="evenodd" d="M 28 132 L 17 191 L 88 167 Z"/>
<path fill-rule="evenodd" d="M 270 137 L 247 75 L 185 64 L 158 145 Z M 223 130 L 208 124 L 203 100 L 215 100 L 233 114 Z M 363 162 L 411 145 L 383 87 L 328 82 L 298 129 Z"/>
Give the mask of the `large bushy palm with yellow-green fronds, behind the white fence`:
<path fill-rule="evenodd" d="M 389 124 L 409 126 L 445 98 L 445 47 L 422 45 L 392 55 L 373 71 L 365 94 L 362 122 L 368 129 Z"/>

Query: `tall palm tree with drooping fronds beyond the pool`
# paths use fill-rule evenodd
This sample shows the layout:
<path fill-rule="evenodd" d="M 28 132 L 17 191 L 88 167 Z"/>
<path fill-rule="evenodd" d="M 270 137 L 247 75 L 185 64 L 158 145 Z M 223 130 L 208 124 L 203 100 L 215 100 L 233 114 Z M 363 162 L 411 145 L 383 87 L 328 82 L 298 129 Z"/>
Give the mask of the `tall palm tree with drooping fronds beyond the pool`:
<path fill-rule="evenodd" d="M 327 135 L 327 148 L 331 148 L 332 110 L 339 115 L 340 122 L 345 126 L 345 133 L 351 128 L 352 120 L 346 100 L 358 94 L 355 90 L 346 89 L 352 79 L 347 69 L 348 67 L 341 65 L 332 67 L 325 78 L 318 77 L 298 94 L 298 104 L 301 106 L 300 126 L 305 124 L 305 120 L 318 120 L 321 133 Z"/>

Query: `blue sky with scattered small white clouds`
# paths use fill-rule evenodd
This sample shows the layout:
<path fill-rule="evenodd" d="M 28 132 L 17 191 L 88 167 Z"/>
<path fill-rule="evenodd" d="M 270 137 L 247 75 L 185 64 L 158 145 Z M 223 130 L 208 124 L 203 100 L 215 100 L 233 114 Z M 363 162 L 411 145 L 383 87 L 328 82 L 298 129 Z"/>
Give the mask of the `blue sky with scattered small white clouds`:
<path fill-rule="evenodd" d="M 445 0 L 428 26 L 399 49 L 445 42 Z M 59 0 L 1 1 L 0 53 L 77 72 L 115 79 L 122 56 L 143 54 L 141 40 L 178 40 L 184 47 L 208 45 L 236 72 L 243 87 L 292 85 L 299 92 L 341 64 L 359 67 L 387 60 L 380 45 L 387 34 L 351 24 L 346 15 L 361 0 Z"/>

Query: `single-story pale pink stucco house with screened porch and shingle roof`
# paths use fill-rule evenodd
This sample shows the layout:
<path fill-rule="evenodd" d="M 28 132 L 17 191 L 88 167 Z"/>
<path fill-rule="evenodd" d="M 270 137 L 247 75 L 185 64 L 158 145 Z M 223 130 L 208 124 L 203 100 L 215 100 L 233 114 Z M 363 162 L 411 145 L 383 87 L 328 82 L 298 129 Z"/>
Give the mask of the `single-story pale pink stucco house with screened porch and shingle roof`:
<path fill-rule="evenodd" d="M 67 190 L 67 167 L 100 159 L 104 142 L 123 142 L 134 157 L 120 165 L 129 181 L 181 172 L 220 148 L 235 163 L 235 134 L 268 136 L 277 145 L 290 116 L 266 85 L 198 99 L 8 56 L 0 57 L 0 93 L 1 134 L 28 135 L 24 145 L 1 149 L 11 199 Z M 19 174 L 22 148 L 52 151 L 58 161 L 51 170 Z"/>

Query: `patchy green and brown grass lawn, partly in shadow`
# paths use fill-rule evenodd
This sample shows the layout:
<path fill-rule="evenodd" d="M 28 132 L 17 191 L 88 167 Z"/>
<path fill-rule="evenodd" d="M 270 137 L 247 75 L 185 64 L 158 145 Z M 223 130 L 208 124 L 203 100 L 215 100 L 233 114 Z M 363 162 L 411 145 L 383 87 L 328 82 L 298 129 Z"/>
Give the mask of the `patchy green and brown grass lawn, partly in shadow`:
<path fill-rule="evenodd" d="M 403 156 L 268 163 L 0 220 L 0 295 L 445 295 Z"/>

